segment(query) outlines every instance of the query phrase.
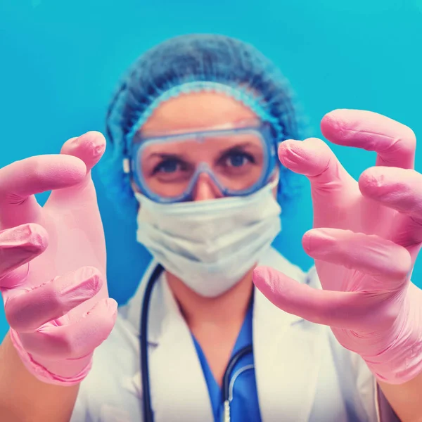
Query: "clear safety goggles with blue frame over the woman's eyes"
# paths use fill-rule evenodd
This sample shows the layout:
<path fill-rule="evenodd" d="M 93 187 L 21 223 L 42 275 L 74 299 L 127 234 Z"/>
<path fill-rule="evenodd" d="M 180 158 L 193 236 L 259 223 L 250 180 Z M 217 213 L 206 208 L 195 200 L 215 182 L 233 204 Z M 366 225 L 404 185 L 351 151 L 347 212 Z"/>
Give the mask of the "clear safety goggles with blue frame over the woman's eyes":
<path fill-rule="evenodd" d="M 268 183 L 276 168 L 271 127 L 213 129 L 132 142 L 131 173 L 139 190 L 159 203 L 191 200 L 200 174 L 223 196 L 245 196 Z"/>

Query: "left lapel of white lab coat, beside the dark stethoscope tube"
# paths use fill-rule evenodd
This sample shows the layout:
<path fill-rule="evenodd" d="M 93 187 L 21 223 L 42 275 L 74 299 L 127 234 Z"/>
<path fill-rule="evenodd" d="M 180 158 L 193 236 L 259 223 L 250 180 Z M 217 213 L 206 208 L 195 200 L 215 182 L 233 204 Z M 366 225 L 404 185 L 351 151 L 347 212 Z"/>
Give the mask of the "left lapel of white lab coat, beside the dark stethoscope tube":
<path fill-rule="evenodd" d="M 191 333 L 165 279 L 157 284 L 148 323 L 154 422 L 211 422 L 210 396 Z"/>

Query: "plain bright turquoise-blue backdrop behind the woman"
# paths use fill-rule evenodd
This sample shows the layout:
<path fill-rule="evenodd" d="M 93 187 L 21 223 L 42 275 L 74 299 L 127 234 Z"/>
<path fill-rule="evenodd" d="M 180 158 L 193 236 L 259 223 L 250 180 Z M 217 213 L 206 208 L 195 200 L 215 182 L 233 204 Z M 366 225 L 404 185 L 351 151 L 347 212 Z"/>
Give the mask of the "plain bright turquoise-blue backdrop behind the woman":
<path fill-rule="evenodd" d="M 149 47 L 188 32 L 239 37 L 271 57 L 293 84 L 315 136 L 334 108 L 373 110 L 421 134 L 421 25 L 422 0 L 0 0 L 0 167 L 57 153 L 66 139 L 88 130 L 103 131 L 110 95 L 127 66 Z M 373 153 L 333 149 L 354 177 L 373 165 Z M 101 184 L 98 202 L 110 294 L 124 302 L 148 254 L 136 244 L 135 222 L 115 212 Z M 312 264 L 300 243 L 311 224 L 305 184 L 283 210 L 276 240 L 303 269 Z M 419 286 L 421 261 L 413 276 Z M 0 338 L 6 329 L 0 306 Z"/>

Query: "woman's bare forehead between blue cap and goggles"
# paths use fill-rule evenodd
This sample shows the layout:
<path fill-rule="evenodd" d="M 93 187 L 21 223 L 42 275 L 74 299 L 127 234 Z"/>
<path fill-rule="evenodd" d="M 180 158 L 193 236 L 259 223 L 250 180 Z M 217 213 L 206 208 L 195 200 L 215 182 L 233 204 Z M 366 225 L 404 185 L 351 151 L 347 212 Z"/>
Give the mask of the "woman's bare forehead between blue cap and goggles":
<path fill-rule="evenodd" d="M 148 136 L 236 127 L 244 121 L 258 122 L 259 118 L 243 103 L 225 94 L 192 92 L 161 103 L 143 124 L 141 132 Z"/>

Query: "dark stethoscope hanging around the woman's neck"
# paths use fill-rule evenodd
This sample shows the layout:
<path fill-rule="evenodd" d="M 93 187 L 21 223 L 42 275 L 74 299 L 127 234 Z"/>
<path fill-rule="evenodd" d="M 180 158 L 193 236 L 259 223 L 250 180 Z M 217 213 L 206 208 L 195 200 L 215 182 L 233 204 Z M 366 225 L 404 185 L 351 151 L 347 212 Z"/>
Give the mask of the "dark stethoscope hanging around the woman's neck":
<path fill-rule="evenodd" d="M 141 348 L 141 382 L 142 382 L 142 404 L 143 404 L 143 422 L 153 422 L 154 414 L 151 405 L 151 388 L 149 379 L 149 367 L 148 367 L 148 310 L 151 300 L 151 293 L 153 292 L 153 286 L 155 281 L 160 278 L 160 275 L 164 271 L 161 264 L 155 267 L 153 273 L 148 279 L 145 293 L 143 295 L 142 309 L 141 309 L 141 324 L 139 328 L 139 345 Z M 245 365 L 241 369 L 238 369 L 236 373 L 232 373 L 236 364 L 246 354 L 252 353 L 252 345 L 248 345 L 239 350 L 233 357 L 231 357 L 229 364 L 227 364 L 226 371 L 223 376 L 222 384 L 222 400 L 224 404 L 223 421 L 230 422 L 230 404 L 233 400 L 234 382 L 243 372 L 254 369 L 254 365 Z"/>

